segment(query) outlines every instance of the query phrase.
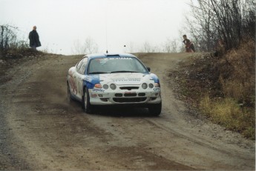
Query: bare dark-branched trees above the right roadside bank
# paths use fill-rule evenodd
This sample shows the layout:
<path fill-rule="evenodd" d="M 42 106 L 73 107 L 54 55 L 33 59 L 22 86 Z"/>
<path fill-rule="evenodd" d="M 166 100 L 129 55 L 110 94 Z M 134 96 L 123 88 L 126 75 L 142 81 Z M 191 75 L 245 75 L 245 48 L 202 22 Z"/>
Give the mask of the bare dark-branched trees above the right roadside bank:
<path fill-rule="evenodd" d="M 191 1 L 191 15 L 186 18 L 189 33 L 198 49 L 214 50 L 217 40 L 226 50 L 237 48 L 243 38 L 255 38 L 255 10 L 252 0 Z"/>

